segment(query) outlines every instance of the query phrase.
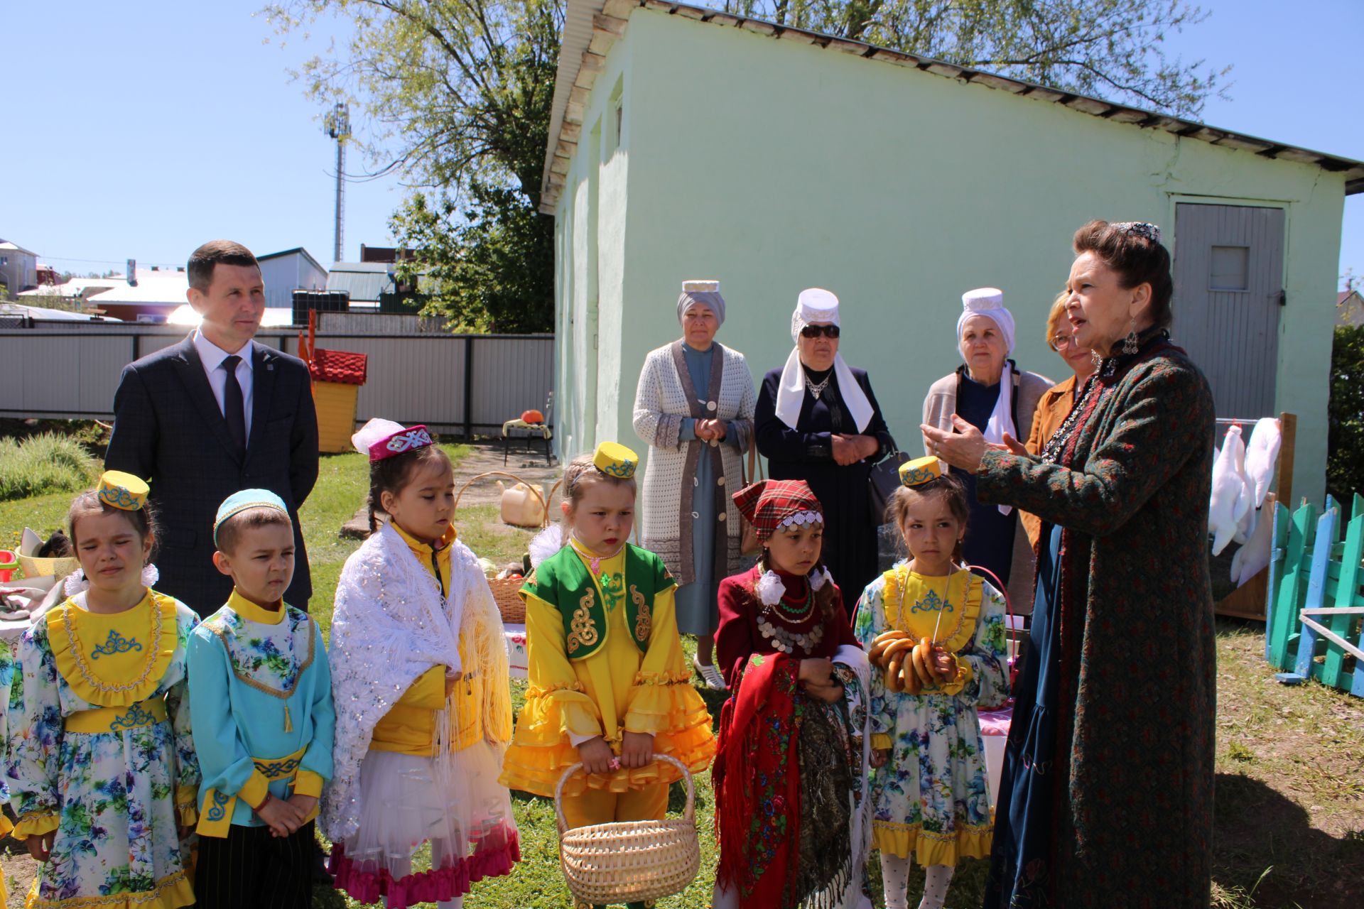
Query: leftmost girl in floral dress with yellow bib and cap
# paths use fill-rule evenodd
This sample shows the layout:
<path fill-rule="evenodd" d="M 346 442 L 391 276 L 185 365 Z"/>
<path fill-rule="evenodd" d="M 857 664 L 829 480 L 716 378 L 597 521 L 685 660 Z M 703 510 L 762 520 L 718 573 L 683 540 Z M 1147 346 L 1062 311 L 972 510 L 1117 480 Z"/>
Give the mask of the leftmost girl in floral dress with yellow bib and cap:
<path fill-rule="evenodd" d="M 184 660 L 199 619 L 147 586 L 146 497 L 146 482 L 119 472 L 76 496 L 83 578 L 19 642 L 7 777 L 14 835 L 42 863 L 30 908 L 194 902 L 186 838 L 199 767 Z"/>

